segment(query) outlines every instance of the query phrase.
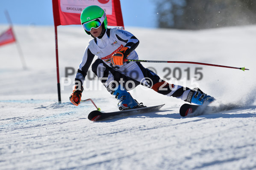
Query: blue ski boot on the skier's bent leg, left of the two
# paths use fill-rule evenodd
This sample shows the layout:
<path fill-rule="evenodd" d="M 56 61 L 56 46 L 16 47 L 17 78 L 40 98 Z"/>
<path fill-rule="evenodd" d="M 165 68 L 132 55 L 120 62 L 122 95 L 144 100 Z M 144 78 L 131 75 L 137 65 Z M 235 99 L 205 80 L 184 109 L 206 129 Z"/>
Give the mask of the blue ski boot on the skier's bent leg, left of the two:
<path fill-rule="evenodd" d="M 121 85 L 119 85 L 114 90 L 115 91 L 112 91 L 111 94 L 115 95 L 115 98 L 119 100 L 119 110 L 134 109 L 141 106 L 141 104 L 134 100 L 130 93 L 127 92 Z"/>

